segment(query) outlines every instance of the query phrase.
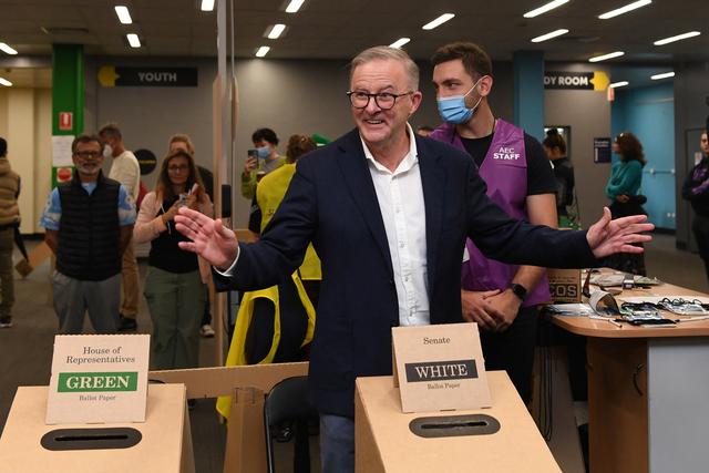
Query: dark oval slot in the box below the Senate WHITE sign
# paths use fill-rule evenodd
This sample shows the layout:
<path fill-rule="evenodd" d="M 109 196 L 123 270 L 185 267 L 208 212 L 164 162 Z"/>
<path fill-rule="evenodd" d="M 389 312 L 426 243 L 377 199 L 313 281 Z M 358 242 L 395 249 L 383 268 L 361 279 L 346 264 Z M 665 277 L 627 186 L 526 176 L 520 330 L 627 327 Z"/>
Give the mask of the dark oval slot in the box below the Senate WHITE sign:
<path fill-rule="evenodd" d="M 423 438 L 490 435 L 500 430 L 500 422 L 486 414 L 441 415 L 415 418 L 409 429 Z"/>

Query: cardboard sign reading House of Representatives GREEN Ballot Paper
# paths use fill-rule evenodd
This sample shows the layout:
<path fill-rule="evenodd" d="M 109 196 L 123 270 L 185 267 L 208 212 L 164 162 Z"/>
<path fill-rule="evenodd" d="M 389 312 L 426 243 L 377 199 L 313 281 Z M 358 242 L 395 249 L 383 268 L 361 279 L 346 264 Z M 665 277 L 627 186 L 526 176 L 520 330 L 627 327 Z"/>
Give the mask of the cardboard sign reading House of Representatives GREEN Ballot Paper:
<path fill-rule="evenodd" d="M 150 335 L 54 338 L 47 423 L 144 422 Z"/>

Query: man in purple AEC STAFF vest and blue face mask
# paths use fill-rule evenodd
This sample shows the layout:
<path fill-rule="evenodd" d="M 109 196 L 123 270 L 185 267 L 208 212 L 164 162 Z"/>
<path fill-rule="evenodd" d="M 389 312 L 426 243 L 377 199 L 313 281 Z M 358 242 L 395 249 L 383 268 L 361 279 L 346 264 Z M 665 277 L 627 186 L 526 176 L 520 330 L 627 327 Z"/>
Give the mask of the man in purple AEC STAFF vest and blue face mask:
<path fill-rule="evenodd" d="M 440 48 L 432 59 L 441 119 L 431 137 L 466 152 L 487 196 L 514 218 L 555 228 L 556 181 L 544 150 L 524 130 L 494 116 L 487 96 L 490 56 L 473 43 Z M 506 265 L 467 240 L 462 268 L 463 318 L 476 322 L 487 370 L 505 370 L 525 402 L 532 398 L 537 306 L 549 300 L 544 268 Z"/>

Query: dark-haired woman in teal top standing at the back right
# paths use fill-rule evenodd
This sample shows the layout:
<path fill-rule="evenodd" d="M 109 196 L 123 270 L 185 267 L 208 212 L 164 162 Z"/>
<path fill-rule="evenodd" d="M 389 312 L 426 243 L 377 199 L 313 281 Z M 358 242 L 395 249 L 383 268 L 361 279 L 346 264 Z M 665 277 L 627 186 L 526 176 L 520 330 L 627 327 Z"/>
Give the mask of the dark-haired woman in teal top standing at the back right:
<path fill-rule="evenodd" d="M 606 185 L 606 197 L 610 199 L 609 208 L 613 218 L 647 215 L 643 208 L 646 198 L 639 194 L 643 167 L 647 163 L 643 144 L 633 133 L 623 132 L 613 142 L 613 152 L 620 156 L 613 165 L 608 185 Z M 644 254 L 618 253 L 608 258 L 607 265 L 625 273 L 646 275 Z"/>

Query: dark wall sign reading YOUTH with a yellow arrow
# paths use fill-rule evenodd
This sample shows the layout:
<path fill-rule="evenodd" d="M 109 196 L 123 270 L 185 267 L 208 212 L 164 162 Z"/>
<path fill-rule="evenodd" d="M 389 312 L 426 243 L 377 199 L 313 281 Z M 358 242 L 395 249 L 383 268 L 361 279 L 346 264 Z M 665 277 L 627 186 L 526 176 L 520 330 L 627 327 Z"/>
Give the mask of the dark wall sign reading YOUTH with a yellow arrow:
<path fill-rule="evenodd" d="M 196 88 L 197 68 L 103 65 L 99 83 L 104 88 Z"/>

